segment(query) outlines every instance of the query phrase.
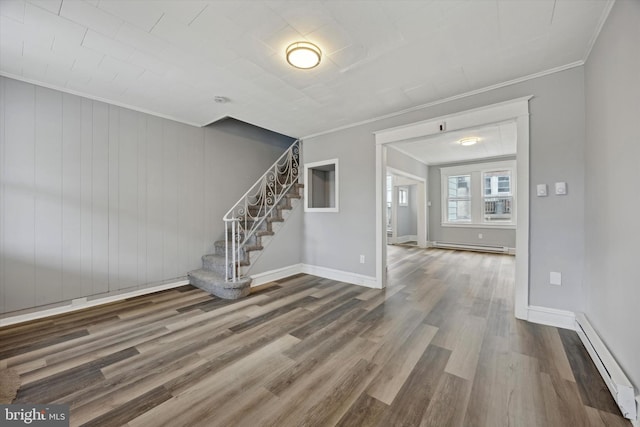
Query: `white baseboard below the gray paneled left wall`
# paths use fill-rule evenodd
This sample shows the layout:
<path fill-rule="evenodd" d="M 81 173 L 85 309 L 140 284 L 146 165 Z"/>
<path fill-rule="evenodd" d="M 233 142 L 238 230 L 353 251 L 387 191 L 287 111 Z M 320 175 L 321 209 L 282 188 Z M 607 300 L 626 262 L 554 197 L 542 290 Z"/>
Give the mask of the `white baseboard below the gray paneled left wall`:
<path fill-rule="evenodd" d="M 154 292 L 165 291 L 167 289 L 177 288 L 178 286 L 188 285 L 188 280 L 178 280 L 176 282 L 164 283 L 162 285 L 152 286 L 149 288 L 136 289 L 135 291 L 124 292 L 117 295 L 110 295 L 102 298 L 86 300 L 86 298 L 77 298 L 67 305 L 34 311 L 31 313 L 20 314 L 17 316 L 5 317 L 0 319 L 0 326 L 15 325 L 17 323 L 28 322 L 30 320 L 42 319 L 44 317 L 55 316 L 57 314 L 71 313 L 73 311 L 82 310 L 97 305 L 107 304 L 115 301 L 122 301 L 127 298 L 133 298 L 141 295 L 152 294 Z"/>

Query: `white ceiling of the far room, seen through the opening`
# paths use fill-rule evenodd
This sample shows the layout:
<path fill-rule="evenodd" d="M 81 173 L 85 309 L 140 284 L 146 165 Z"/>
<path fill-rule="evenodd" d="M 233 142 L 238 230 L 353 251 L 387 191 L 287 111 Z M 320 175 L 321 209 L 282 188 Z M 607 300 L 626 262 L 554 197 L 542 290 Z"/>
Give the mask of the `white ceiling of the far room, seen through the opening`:
<path fill-rule="evenodd" d="M 476 137 L 478 143 L 462 146 L 462 138 Z M 426 138 L 395 143 L 399 151 L 420 160 L 427 165 L 464 162 L 516 154 L 515 122 L 488 125 L 476 129 L 447 132 Z"/>

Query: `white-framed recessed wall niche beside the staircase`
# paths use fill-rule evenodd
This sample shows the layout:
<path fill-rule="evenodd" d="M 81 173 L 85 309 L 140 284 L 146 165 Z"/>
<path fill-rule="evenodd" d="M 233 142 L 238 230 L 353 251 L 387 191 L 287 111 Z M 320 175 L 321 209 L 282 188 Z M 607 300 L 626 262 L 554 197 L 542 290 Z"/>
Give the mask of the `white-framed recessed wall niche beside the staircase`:
<path fill-rule="evenodd" d="M 338 212 L 338 159 L 304 165 L 305 212 Z"/>

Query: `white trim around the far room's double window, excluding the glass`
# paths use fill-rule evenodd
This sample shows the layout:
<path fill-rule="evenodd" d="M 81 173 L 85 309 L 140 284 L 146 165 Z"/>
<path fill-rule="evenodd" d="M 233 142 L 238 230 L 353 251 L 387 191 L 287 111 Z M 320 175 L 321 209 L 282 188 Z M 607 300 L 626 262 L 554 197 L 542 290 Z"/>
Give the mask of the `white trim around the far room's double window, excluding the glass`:
<path fill-rule="evenodd" d="M 483 176 L 486 172 L 495 170 L 511 170 L 511 196 L 513 197 L 511 221 L 509 222 L 486 222 L 482 215 L 482 203 L 478 204 L 476 200 L 483 200 L 482 192 Z M 461 166 L 449 166 L 440 168 L 440 203 L 441 203 L 441 221 L 442 227 L 460 227 L 460 228 L 502 228 L 515 229 L 517 227 L 517 194 L 516 194 L 516 161 L 502 160 L 488 163 L 473 163 Z M 457 175 L 471 175 L 471 221 L 449 222 L 447 209 L 448 194 L 448 177 Z M 475 178 L 474 178 L 475 177 Z M 474 203 L 474 201 L 476 201 Z M 479 207 L 480 206 L 480 207 Z"/>

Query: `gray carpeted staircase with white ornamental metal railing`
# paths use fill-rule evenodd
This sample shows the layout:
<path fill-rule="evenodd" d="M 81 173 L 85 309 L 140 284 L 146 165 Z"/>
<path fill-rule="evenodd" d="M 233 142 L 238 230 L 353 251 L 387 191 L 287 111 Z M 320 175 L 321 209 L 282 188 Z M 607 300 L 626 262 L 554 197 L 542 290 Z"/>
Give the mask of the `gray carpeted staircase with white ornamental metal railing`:
<path fill-rule="evenodd" d="M 192 285 L 223 299 L 238 299 L 251 291 L 251 259 L 266 248 L 267 240 L 284 222 L 284 211 L 301 199 L 298 183 L 300 142 L 295 141 L 226 213 L 225 239 L 214 253 L 202 257 L 202 268 L 188 274 Z"/>

